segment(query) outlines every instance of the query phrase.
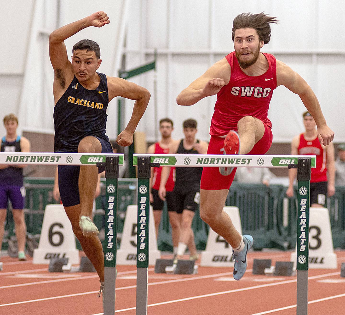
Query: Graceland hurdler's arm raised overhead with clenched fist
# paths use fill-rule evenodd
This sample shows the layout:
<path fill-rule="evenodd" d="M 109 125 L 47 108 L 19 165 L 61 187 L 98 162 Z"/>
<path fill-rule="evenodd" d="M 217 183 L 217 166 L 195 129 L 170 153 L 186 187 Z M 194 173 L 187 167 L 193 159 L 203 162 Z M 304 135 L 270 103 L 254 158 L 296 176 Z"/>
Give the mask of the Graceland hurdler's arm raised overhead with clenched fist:
<path fill-rule="evenodd" d="M 54 69 L 54 96 L 59 96 L 62 90 L 66 90 L 66 83 L 73 80 L 72 64 L 68 60 L 66 45 L 64 41 L 82 29 L 89 26 L 102 27 L 110 23 L 109 17 L 103 11 L 91 14 L 89 17 L 67 24 L 53 31 L 49 35 L 49 57 Z"/>

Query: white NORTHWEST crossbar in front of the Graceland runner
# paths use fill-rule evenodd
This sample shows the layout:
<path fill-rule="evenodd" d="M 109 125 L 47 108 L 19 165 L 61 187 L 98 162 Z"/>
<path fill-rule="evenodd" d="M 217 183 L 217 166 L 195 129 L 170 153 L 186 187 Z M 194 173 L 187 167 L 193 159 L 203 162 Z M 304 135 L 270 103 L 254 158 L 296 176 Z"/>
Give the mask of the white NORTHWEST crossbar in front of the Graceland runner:
<path fill-rule="evenodd" d="M 118 156 L 119 165 L 124 164 L 123 154 L 50 152 L 1 152 L 0 164 L 96 165 L 98 162 L 105 163 L 107 156 Z"/>

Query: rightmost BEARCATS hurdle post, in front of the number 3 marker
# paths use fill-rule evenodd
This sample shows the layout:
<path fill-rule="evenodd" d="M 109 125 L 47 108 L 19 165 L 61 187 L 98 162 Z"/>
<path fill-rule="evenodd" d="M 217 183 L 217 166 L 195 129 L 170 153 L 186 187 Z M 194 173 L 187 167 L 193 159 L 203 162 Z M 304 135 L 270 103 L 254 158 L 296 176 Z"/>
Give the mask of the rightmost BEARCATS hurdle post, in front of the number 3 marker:
<path fill-rule="evenodd" d="M 298 158 L 297 167 L 297 315 L 308 314 L 309 200 L 311 158 Z"/>

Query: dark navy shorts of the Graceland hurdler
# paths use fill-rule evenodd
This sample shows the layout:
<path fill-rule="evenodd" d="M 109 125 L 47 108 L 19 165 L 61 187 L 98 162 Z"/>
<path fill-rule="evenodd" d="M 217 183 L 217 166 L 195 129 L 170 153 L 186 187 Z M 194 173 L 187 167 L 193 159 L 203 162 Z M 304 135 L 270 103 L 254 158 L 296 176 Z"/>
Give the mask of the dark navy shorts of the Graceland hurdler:
<path fill-rule="evenodd" d="M 97 138 L 102 145 L 102 153 L 114 153 L 109 141 Z M 59 190 L 62 204 L 65 207 L 75 206 L 80 203 L 79 199 L 79 165 L 58 165 Z M 105 166 L 98 168 L 98 173 L 105 170 Z"/>

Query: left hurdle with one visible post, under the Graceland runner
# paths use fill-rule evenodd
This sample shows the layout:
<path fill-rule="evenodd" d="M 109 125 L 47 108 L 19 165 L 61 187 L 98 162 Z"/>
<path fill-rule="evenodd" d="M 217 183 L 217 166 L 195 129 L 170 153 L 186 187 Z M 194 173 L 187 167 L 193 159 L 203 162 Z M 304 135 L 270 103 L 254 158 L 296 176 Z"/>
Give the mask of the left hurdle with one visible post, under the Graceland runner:
<path fill-rule="evenodd" d="M 113 315 L 115 313 L 116 281 L 117 185 L 119 165 L 124 164 L 124 154 L 1 152 L 0 164 L 105 166 L 107 209 L 104 244 L 104 314 Z"/>

